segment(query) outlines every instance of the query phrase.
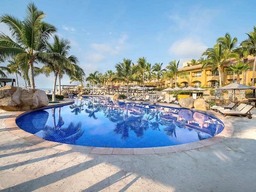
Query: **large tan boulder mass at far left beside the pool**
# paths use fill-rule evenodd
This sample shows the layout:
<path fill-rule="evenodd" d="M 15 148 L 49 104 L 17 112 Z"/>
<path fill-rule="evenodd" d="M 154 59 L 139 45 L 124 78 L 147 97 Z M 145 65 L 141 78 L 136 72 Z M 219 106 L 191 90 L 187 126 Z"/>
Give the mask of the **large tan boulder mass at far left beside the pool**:
<path fill-rule="evenodd" d="M 19 111 L 45 107 L 49 100 L 44 91 L 22 89 L 6 85 L 0 88 L 0 108 L 5 111 Z"/>

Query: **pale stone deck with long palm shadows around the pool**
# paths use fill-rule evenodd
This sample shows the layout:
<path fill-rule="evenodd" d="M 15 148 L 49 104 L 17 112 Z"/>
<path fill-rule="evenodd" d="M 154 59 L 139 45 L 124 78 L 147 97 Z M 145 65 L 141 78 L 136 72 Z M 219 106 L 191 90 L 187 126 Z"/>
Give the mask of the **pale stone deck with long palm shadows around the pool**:
<path fill-rule="evenodd" d="M 225 117 L 234 133 L 210 146 L 98 155 L 34 145 L 5 129 L 15 112 L 0 111 L 0 191 L 255 191 L 256 110 L 251 112 L 252 119 Z"/>

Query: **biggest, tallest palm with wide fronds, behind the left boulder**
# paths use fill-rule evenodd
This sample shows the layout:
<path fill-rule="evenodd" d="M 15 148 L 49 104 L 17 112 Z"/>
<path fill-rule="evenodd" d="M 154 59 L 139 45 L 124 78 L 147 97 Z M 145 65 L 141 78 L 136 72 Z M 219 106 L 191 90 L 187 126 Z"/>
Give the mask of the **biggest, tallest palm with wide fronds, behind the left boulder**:
<path fill-rule="evenodd" d="M 28 4 L 22 21 L 8 14 L 0 17 L 0 22 L 7 24 L 12 33 L 12 37 L 0 34 L 0 55 L 5 60 L 16 57 L 21 68 L 29 64 L 32 89 L 35 89 L 34 62 L 40 59 L 56 61 L 55 53 L 44 52 L 45 43 L 56 32 L 53 25 L 43 21 L 44 17 L 44 12 L 32 2 Z"/>

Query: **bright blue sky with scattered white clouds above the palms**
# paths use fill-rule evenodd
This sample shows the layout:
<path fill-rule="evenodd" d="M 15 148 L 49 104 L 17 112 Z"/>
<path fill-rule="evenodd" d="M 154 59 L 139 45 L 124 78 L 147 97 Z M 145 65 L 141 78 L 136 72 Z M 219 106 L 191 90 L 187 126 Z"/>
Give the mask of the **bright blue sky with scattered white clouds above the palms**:
<path fill-rule="evenodd" d="M 1 1 L 0 14 L 23 18 L 28 0 Z M 229 32 L 238 41 L 255 23 L 254 1 L 34 1 L 58 35 L 71 41 L 86 75 L 115 70 L 129 58 L 146 57 L 152 65 L 198 59 Z M 0 31 L 9 34 L 7 26 Z M 4 64 L 1 64 L 4 65 Z M 14 76 L 13 76 L 14 77 Z M 21 81 L 21 78 L 20 78 Z M 52 87 L 53 76 L 36 77 L 40 88 Z M 24 83 L 20 83 L 24 84 Z M 69 84 L 64 77 L 62 84 Z"/>

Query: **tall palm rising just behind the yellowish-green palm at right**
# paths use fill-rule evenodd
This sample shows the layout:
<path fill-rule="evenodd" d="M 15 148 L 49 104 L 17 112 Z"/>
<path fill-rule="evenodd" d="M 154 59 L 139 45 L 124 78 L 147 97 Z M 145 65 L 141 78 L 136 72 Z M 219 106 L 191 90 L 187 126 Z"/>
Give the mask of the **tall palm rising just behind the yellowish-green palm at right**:
<path fill-rule="evenodd" d="M 220 43 L 223 47 L 223 52 L 225 55 L 228 55 L 229 53 L 233 52 L 233 49 L 236 46 L 237 38 L 234 37 L 232 39 L 231 35 L 229 33 L 226 33 L 224 37 L 220 37 L 217 39 L 217 43 Z M 238 55 L 237 55 L 238 58 Z M 231 58 L 229 58 L 229 62 L 231 64 Z M 233 73 L 233 83 L 235 82 L 235 73 Z"/>

